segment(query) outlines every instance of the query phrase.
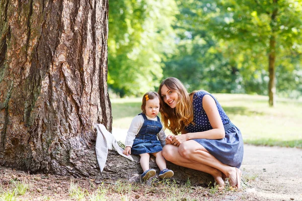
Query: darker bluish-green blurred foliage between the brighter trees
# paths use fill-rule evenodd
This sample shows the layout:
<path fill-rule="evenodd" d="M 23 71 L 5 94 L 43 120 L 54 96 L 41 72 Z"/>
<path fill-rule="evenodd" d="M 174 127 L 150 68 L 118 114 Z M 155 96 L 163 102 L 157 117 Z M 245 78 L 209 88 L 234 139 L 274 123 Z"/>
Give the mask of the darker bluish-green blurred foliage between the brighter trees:
<path fill-rule="evenodd" d="M 173 26 L 177 33 L 175 53 L 167 59 L 164 75 L 180 78 L 189 89 L 211 92 L 242 92 L 236 65 L 207 26 L 212 6 L 205 1 L 178 1 L 179 14 Z"/>

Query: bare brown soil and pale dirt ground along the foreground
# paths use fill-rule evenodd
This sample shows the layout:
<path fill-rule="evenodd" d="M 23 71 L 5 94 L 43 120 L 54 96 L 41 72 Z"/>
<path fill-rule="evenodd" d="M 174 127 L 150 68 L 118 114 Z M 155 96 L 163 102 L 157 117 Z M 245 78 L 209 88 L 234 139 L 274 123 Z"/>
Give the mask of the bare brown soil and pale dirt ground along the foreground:
<path fill-rule="evenodd" d="M 302 201 L 302 150 L 296 148 L 263 147 L 245 145 L 242 188 L 240 190 L 214 191 L 208 187 L 192 187 L 187 191 L 193 200 L 297 200 Z M 69 196 L 70 177 L 50 174 L 28 174 L 12 168 L 0 167 L 0 192 L 12 189 L 14 181 L 30 182 L 30 189 L 18 196 L 18 200 L 78 200 Z M 102 181 L 94 178 L 73 178 L 82 189 L 90 194 Z M 103 185 L 112 185 L 116 181 L 103 181 Z M 129 185 L 126 184 L 126 185 Z M 121 198 L 120 191 L 115 187 L 108 191 L 105 200 L 167 200 L 165 189 L 160 190 L 159 184 L 137 184 L 127 198 Z M 147 191 L 137 190 L 149 188 Z M 167 184 L 168 185 L 168 184 Z M 119 185 L 122 187 L 122 185 Z M 165 185 L 161 185 L 163 186 Z M 103 186 L 104 187 L 104 186 Z M 156 190 L 154 190 L 156 188 Z M 167 190 L 167 189 L 166 189 Z M 188 200 L 173 198 L 169 200 Z M 175 194 L 175 196 L 178 196 Z M 186 195 L 184 195 L 185 197 Z M 194 198 L 195 197 L 195 198 Z M 0 200 L 1 193 L 0 193 Z M 89 199 L 87 199 L 89 200 Z"/>

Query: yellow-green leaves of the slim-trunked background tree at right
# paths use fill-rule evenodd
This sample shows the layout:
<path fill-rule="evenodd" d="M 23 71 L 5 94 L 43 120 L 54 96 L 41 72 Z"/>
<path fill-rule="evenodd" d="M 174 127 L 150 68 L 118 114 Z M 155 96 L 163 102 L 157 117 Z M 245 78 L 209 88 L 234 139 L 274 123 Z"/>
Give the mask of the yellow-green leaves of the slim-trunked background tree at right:
<path fill-rule="evenodd" d="M 270 38 L 276 38 L 276 80 L 280 94 L 301 95 L 302 1 L 216 1 L 209 21 L 217 39 L 223 40 L 224 57 L 240 69 L 245 92 L 267 94 Z M 237 51 L 236 51 L 237 50 Z M 292 94 L 290 89 L 299 85 Z"/>

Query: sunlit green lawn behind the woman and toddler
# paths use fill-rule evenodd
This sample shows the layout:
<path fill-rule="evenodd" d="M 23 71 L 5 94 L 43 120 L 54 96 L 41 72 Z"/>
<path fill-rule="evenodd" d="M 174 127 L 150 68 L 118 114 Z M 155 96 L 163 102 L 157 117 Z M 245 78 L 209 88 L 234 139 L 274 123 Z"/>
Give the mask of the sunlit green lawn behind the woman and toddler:
<path fill-rule="evenodd" d="M 302 102 L 247 94 L 214 94 L 231 121 L 240 128 L 244 142 L 255 145 L 302 148 Z M 128 129 L 139 114 L 141 98 L 112 98 L 113 128 Z M 170 133 L 166 130 L 166 133 Z"/>

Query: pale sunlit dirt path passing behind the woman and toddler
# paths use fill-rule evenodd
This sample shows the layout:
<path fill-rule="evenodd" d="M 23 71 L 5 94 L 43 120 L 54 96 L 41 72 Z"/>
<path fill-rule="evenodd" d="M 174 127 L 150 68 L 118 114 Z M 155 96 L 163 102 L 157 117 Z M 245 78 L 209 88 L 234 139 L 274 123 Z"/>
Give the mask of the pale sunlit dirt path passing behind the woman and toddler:
<path fill-rule="evenodd" d="M 113 128 L 112 134 L 124 142 L 127 130 Z M 224 200 L 302 201 L 302 149 L 245 144 L 240 169 L 243 192 Z"/>

